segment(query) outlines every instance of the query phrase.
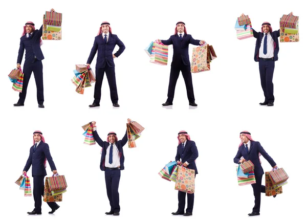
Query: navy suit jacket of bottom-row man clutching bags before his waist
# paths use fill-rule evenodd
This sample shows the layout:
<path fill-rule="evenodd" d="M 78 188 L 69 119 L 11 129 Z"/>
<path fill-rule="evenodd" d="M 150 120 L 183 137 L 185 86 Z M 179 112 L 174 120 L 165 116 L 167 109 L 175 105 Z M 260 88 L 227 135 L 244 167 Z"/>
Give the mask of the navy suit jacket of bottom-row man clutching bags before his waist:
<path fill-rule="evenodd" d="M 187 140 L 183 152 L 182 152 L 182 144 L 180 143 L 177 147 L 177 155 L 175 160 L 176 161 L 180 161 L 184 163 L 184 162 L 188 162 L 189 165 L 187 166 L 187 168 L 189 169 L 194 169 L 195 170 L 195 174 L 198 174 L 197 171 L 197 167 L 195 164 L 195 160 L 196 158 L 198 158 L 198 150 L 197 147 L 195 145 L 194 141 L 189 141 Z"/>

